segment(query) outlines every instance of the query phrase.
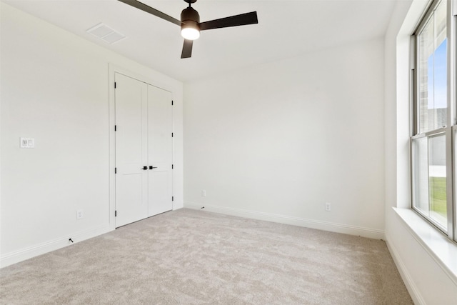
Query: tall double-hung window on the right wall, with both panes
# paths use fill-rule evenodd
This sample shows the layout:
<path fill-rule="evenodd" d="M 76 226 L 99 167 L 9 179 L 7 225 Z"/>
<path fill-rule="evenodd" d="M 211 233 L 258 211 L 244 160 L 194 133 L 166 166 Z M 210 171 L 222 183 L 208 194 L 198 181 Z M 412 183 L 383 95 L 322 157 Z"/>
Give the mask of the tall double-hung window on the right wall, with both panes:
<path fill-rule="evenodd" d="M 451 2 L 433 1 L 412 36 L 412 209 L 456 241 L 457 126 Z M 454 62 L 454 61 L 452 61 Z"/>

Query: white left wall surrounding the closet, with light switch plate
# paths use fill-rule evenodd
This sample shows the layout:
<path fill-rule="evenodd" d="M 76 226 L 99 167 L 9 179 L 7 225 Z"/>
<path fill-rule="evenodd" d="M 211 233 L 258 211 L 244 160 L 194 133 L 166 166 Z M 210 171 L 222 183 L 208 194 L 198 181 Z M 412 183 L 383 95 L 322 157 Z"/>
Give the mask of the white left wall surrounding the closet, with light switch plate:
<path fill-rule="evenodd" d="M 173 91 L 174 208 L 181 207 L 181 82 L 0 5 L 1 266 L 114 229 L 109 64 Z M 19 149 L 21 136 L 35 148 Z M 84 219 L 76 220 L 78 209 Z"/>

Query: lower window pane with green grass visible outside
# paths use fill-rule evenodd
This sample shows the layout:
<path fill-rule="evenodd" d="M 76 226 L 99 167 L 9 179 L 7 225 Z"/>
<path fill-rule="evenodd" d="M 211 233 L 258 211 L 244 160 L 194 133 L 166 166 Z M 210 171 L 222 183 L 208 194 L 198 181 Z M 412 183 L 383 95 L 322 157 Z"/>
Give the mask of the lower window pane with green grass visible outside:
<path fill-rule="evenodd" d="M 413 166 L 413 206 L 446 230 L 446 136 L 413 140 Z"/>

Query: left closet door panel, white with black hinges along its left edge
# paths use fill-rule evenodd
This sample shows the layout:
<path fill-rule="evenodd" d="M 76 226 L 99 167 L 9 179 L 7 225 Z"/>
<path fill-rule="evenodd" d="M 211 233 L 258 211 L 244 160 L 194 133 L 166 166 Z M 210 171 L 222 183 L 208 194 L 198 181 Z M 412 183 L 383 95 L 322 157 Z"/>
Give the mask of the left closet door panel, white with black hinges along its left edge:
<path fill-rule="evenodd" d="M 148 85 L 122 74 L 116 81 L 116 227 L 148 214 Z"/>

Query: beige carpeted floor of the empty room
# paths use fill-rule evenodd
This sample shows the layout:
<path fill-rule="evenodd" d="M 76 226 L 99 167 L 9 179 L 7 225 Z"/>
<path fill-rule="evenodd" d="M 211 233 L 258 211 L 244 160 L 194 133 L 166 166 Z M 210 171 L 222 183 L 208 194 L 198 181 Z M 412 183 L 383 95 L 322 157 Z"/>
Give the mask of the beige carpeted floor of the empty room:
<path fill-rule="evenodd" d="M 0 304 L 413 304 L 384 241 L 180 209 L 0 270 Z"/>

